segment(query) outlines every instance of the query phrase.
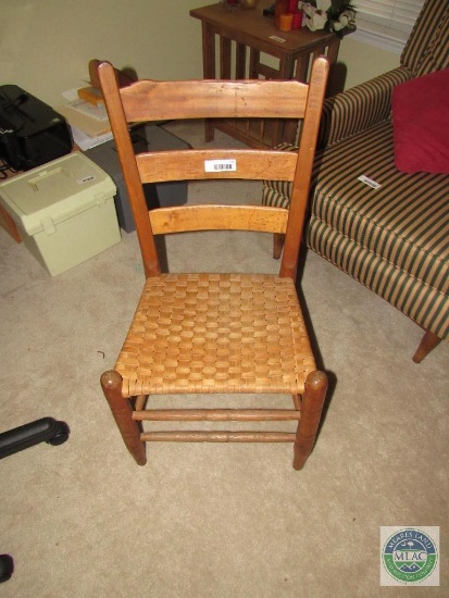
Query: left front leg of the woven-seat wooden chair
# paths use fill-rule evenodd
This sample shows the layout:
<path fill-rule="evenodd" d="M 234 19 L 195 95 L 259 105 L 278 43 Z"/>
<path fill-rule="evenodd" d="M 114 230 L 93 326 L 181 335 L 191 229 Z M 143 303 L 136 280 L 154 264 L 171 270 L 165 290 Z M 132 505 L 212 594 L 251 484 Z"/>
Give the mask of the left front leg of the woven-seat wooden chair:
<path fill-rule="evenodd" d="M 140 439 L 139 423 L 133 420 L 129 399 L 122 396 L 122 376 L 115 370 L 109 370 L 101 375 L 100 382 L 126 448 L 138 465 L 145 465 L 145 443 Z"/>

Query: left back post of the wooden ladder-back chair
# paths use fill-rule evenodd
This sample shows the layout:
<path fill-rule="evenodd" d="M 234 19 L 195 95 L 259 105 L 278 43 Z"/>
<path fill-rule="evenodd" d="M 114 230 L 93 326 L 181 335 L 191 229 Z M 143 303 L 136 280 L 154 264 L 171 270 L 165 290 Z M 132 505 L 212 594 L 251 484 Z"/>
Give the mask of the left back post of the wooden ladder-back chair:
<path fill-rule="evenodd" d="M 140 251 L 146 276 L 158 276 L 161 273 L 158 251 L 148 217 L 147 201 L 141 186 L 140 175 L 128 134 L 128 125 L 120 95 L 119 82 L 114 67 L 109 62 L 98 65 L 98 76 L 103 95 L 108 95 L 108 116 L 116 141 L 119 159 L 128 190 L 129 203 L 136 222 Z"/>

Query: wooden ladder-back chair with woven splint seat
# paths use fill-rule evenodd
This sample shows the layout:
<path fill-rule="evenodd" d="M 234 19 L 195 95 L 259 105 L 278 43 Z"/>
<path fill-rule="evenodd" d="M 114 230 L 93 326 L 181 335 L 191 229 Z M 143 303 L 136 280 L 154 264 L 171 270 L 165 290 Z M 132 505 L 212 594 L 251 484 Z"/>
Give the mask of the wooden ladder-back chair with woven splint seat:
<path fill-rule="evenodd" d="M 292 441 L 298 470 L 312 450 L 327 378 L 316 370 L 296 275 L 327 73 L 326 59 L 319 58 L 309 85 L 139 80 L 120 89 L 113 66 L 103 62 L 98 67 L 146 274 L 123 349 L 101 385 L 140 465 L 147 461 L 145 444 L 158 440 Z M 302 120 L 299 151 L 188 149 L 135 155 L 128 133 L 132 123 L 147 121 L 262 116 Z M 142 183 L 223 178 L 291 180 L 290 210 L 189 203 L 147 209 Z M 204 229 L 285 233 L 279 275 L 162 273 L 154 235 Z M 294 403 L 292 409 L 149 409 L 151 396 L 185 394 L 201 395 L 201 400 L 211 394 L 280 394 L 292 396 Z M 298 421 L 296 432 L 145 429 L 148 421 L 287 420 Z"/>

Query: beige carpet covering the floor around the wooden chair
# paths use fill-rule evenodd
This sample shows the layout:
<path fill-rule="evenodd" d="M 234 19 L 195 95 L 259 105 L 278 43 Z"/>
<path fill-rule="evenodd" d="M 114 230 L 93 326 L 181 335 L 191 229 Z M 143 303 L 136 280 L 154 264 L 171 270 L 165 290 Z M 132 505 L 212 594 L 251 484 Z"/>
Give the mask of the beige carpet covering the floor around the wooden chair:
<path fill-rule="evenodd" d="M 172 270 L 276 267 L 270 236 L 169 249 Z M 419 327 L 309 252 L 304 307 L 332 388 L 305 469 L 290 445 L 221 444 L 150 445 L 139 468 L 99 386 L 142 284 L 136 235 L 55 278 L 3 231 L 0 251 L 0 429 L 46 415 L 71 428 L 0 462 L 0 552 L 15 560 L 1 597 L 448 596 L 447 345 L 414 364 Z M 440 526 L 439 588 L 381 588 L 381 525 Z"/>

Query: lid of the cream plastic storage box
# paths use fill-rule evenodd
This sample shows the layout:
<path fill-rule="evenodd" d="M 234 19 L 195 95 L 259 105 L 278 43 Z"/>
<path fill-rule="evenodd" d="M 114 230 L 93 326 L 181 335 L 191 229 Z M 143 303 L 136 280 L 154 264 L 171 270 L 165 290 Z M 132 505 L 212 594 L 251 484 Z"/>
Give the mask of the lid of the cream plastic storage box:
<path fill-rule="evenodd" d="M 112 178 L 80 152 L 73 152 L 0 184 L 0 200 L 28 235 L 54 225 L 115 195 Z"/>

